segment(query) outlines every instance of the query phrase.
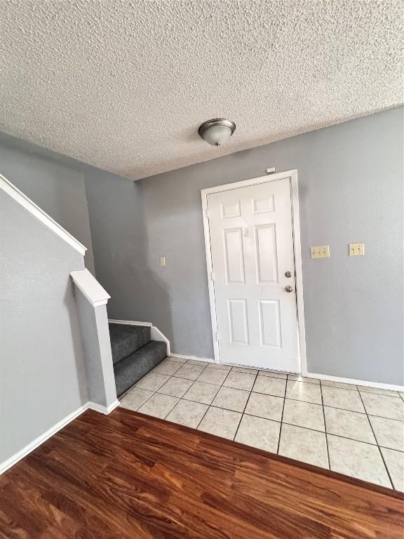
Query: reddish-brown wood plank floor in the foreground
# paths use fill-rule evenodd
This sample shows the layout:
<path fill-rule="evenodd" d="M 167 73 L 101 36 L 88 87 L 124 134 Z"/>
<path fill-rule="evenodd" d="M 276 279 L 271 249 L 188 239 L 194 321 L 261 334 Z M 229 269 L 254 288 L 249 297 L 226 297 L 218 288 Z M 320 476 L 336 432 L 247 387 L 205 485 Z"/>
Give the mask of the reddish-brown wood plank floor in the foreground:
<path fill-rule="evenodd" d="M 403 495 L 118 408 L 0 477 L 4 539 L 403 539 Z"/>

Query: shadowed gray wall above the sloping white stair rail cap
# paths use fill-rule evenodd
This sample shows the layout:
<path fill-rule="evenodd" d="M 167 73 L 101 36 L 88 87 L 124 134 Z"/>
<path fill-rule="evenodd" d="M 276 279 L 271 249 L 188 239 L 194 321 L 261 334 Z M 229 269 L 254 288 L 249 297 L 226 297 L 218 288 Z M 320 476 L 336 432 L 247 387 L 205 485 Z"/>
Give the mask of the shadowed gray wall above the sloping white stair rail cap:
<path fill-rule="evenodd" d="M 87 247 L 86 267 L 94 273 L 83 167 L 79 161 L 0 133 L 0 173 Z"/>

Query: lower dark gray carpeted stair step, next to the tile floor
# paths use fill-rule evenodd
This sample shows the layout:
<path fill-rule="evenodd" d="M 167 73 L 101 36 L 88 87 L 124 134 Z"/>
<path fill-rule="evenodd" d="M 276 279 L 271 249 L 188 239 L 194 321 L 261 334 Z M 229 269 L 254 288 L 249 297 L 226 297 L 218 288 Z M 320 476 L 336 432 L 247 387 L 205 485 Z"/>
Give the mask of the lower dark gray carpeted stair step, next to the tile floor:
<path fill-rule="evenodd" d="M 166 342 L 151 340 L 133 354 L 114 364 L 116 394 L 135 385 L 145 374 L 152 370 L 167 356 Z"/>

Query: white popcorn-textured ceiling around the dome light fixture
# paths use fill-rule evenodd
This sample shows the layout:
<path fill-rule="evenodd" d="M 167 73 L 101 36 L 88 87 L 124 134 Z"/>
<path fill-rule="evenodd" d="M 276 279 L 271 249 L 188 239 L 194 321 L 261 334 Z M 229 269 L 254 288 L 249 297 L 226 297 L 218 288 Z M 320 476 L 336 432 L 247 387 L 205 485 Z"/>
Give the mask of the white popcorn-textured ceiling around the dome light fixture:
<path fill-rule="evenodd" d="M 0 0 L 0 131 L 128 178 L 403 102 L 401 1 Z M 217 149 L 198 138 L 236 122 Z"/>

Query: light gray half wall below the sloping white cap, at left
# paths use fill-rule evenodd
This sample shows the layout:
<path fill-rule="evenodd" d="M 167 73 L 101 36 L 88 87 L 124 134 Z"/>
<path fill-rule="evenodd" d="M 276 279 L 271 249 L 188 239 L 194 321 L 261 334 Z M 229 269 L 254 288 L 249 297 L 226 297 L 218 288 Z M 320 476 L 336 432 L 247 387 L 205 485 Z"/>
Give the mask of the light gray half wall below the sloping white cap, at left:
<path fill-rule="evenodd" d="M 83 257 L 0 189 L 0 462 L 88 401 Z"/>

